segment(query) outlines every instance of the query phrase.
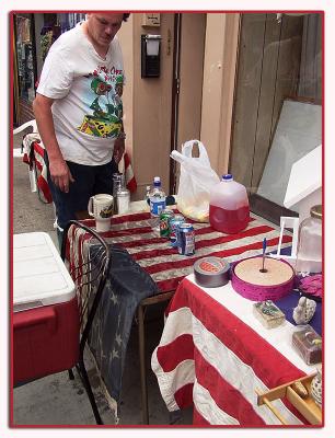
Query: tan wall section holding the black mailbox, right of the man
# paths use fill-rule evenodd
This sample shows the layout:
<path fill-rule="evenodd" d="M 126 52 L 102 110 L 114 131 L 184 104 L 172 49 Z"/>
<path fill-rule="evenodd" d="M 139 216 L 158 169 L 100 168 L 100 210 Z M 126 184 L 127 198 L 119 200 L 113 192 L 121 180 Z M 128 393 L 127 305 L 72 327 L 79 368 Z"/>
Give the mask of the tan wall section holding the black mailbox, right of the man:
<path fill-rule="evenodd" d="M 146 185 L 152 184 L 155 175 L 161 176 L 166 191 L 170 185 L 174 14 L 162 13 L 160 27 L 145 28 L 141 24 L 142 13 L 132 13 L 131 23 L 125 23 L 123 26 L 125 30 L 128 25 L 132 27 L 131 43 L 128 43 L 128 48 L 125 47 L 128 84 L 124 103 L 129 136 L 127 148 L 131 150 L 131 162 L 138 184 L 137 193 L 132 195 L 134 200 L 143 197 Z M 141 78 L 140 41 L 141 34 L 146 33 L 162 35 L 160 78 Z M 129 82 L 132 82 L 132 90 L 128 89 Z M 128 94 L 130 92 L 132 101 Z M 129 135 L 131 125 L 132 132 Z"/>

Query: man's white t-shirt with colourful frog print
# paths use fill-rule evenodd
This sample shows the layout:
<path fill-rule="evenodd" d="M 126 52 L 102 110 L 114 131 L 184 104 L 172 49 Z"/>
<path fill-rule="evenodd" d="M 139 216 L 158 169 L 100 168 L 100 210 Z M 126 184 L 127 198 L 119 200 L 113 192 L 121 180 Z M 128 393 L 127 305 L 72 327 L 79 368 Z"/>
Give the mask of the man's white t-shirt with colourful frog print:
<path fill-rule="evenodd" d="M 53 44 L 37 93 L 55 99 L 54 125 L 65 160 L 88 165 L 112 160 L 122 127 L 124 82 L 116 37 L 105 59 L 97 55 L 81 24 Z"/>

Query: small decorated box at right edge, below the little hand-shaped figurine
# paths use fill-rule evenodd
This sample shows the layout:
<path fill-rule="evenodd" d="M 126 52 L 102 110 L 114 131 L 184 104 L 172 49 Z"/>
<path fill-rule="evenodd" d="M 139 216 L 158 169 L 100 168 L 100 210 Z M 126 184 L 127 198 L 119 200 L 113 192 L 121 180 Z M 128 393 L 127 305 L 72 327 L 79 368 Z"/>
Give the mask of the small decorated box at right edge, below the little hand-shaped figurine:
<path fill-rule="evenodd" d="M 297 326 L 298 328 L 298 326 Z M 322 360 L 322 338 L 311 325 L 301 325 L 292 334 L 292 345 L 307 365 L 319 364 Z"/>

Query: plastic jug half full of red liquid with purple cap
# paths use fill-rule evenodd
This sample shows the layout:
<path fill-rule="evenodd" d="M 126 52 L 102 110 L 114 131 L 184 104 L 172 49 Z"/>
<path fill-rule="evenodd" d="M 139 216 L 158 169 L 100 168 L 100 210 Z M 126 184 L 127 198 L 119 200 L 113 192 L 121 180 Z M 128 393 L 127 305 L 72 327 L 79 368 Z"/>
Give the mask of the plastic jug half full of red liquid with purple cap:
<path fill-rule="evenodd" d="M 244 230 L 250 220 L 249 199 L 244 185 L 231 174 L 222 176 L 209 198 L 209 222 L 215 230 L 234 234 Z"/>

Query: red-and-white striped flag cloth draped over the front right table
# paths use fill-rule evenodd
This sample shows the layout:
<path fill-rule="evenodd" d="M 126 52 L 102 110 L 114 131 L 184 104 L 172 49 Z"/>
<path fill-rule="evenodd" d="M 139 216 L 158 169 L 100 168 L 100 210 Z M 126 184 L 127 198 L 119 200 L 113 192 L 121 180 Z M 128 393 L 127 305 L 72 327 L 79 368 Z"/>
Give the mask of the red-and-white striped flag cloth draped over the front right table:
<path fill-rule="evenodd" d="M 194 275 L 178 286 L 151 366 L 169 411 L 194 405 L 195 425 L 257 427 L 280 425 L 256 389 L 290 382 L 315 371 L 291 347 L 288 321 L 267 330 L 253 316 L 253 302 L 229 283 L 219 288 L 196 285 Z M 274 405 L 288 424 L 303 418 L 280 400 Z"/>

